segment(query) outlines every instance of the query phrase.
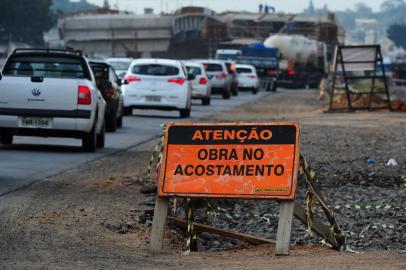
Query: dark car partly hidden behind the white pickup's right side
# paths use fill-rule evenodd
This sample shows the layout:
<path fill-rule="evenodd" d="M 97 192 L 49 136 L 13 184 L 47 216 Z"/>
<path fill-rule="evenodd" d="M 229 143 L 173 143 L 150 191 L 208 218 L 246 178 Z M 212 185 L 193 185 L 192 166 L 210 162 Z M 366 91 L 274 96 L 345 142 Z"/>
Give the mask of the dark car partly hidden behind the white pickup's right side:
<path fill-rule="evenodd" d="M 112 66 L 99 60 L 89 61 L 96 79 L 97 88 L 106 101 L 106 130 L 116 131 L 123 126 L 123 95 L 121 94 L 121 81 Z"/>

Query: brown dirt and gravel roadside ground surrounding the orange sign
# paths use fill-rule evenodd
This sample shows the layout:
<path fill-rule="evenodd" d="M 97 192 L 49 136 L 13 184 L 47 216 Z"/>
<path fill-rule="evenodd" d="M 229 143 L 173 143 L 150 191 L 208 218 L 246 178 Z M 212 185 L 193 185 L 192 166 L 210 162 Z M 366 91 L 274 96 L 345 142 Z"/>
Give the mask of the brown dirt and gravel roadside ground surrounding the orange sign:
<path fill-rule="evenodd" d="M 359 204 L 368 198 L 376 197 L 367 201 L 375 204 L 390 199 L 392 207 L 403 211 L 401 216 L 356 216 L 349 212 L 358 209 L 336 209 L 339 223 L 348 226 L 371 218 L 400 226 L 384 235 L 367 232 L 368 242 L 354 237 L 352 247 L 359 253 L 307 243 L 294 245 L 285 257 L 275 257 L 272 246 L 185 256 L 182 236 L 168 227 L 164 253 L 150 255 L 150 226 L 140 219 L 152 208 L 153 198 L 142 195 L 140 186 L 153 140 L 0 197 L 0 269 L 406 269 L 405 235 L 399 235 L 406 230 L 406 189 L 401 188 L 401 176 L 406 175 L 406 115 L 323 113 L 317 96 L 311 90 L 279 92 L 215 119 L 200 120 L 299 121 L 303 152 L 320 177 L 331 179 L 320 186 L 334 205 L 346 205 L 356 200 L 354 193 L 364 190 Z M 369 157 L 376 164 L 366 165 Z M 399 165 L 388 168 L 388 158 Z M 380 242 L 395 245 L 385 250 Z"/>

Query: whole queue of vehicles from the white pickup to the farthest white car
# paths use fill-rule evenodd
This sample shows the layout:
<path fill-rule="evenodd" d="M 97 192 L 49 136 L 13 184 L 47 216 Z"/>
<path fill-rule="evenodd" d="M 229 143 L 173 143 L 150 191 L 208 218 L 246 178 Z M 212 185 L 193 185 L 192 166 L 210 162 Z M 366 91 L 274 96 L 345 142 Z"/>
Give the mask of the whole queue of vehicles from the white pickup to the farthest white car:
<path fill-rule="evenodd" d="M 178 110 L 192 98 L 258 91 L 252 66 L 220 60 L 87 59 L 71 49 L 16 49 L 0 74 L 0 143 L 14 136 L 72 137 L 93 152 L 137 109 Z"/>

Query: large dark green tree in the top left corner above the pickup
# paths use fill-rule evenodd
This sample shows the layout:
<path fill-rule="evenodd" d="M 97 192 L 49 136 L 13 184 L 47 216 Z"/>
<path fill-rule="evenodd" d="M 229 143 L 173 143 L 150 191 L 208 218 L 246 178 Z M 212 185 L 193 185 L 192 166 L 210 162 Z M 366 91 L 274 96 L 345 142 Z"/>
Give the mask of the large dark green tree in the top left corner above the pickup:
<path fill-rule="evenodd" d="M 52 0 L 1 0 L 0 40 L 43 45 L 43 33 L 55 24 Z"/>

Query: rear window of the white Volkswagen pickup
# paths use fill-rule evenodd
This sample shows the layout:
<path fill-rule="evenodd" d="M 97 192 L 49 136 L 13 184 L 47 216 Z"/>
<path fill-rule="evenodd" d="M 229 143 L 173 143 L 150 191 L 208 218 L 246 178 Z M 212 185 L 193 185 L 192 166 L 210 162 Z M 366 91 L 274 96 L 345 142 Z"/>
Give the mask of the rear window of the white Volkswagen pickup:
<path fill-rule="evenodd" d="M 4 75 L 46 78 L 86 78 L 83 62 L 77 58 L 14 56 L 6 64 Z"/>

